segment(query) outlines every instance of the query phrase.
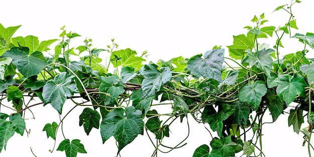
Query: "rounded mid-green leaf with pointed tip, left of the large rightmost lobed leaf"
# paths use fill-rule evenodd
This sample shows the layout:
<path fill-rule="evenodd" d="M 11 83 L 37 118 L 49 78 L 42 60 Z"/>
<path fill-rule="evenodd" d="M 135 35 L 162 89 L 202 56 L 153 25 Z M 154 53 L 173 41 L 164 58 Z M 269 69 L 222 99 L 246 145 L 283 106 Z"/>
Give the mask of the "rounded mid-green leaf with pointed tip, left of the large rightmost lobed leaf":
<path fill-rule="evenodd" d="M 257 110 L 266 92 L 264 81 L 249 81 L 239 90 L 238 98 L 240 102 L 247 102 L 254 110 Z"/>

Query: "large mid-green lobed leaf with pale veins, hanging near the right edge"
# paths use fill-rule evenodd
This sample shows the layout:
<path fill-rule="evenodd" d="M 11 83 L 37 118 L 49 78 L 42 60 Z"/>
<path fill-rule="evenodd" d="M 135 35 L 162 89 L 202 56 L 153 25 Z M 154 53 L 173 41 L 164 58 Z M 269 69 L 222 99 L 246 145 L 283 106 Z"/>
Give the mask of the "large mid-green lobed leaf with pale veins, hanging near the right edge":
<path fill-rule="evenodd" d="M 276 79 L 276 82 L 278 83 L 276 92 L 287 106 L 294 101 L 296 95 L 304 96 L 306 83 L 302 76 L 298 74 L 293 76 L 281 75 Z"/>

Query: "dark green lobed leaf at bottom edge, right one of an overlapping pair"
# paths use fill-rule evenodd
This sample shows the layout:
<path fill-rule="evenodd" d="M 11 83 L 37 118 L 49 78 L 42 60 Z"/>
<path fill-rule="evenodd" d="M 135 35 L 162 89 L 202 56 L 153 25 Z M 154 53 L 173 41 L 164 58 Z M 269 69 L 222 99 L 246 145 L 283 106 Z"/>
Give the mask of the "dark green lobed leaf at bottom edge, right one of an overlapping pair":
<path fill-rule="evenodd" d="M 234 156 L 237 143 L 231 140 L 231 136 L 221 137 L 220 139 L 213 139 L 210 143 L 213 150 L 219 150 L 223 156 Z"/>

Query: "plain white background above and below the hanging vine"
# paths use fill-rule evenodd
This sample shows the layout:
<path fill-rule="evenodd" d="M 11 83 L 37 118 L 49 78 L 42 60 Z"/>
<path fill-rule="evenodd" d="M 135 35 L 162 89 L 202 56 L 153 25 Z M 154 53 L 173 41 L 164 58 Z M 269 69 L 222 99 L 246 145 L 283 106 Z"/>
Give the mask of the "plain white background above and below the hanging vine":
<path fill-rule="evenodd" d="M 147 50 L 150 55 L 147 61 L 156 62 L 158 59 L 169 60 L 178 56 L 190 58 L 215 45 L 226 49 L 226 46 L 232 45 L 233 35 L 245 34 L 247 31 L 243 27 L 254 26 L 250 22 L 254 15 L 265 13 L 265 19 L 269 20 L 265 26 L 284 26 L 289 15 L 283 10 L 272 12 L 287 3 L 290 1 L 11 0 L 1 2 L 0 23 L 5 27 L 22 25 L 14 37 L 34 35 L 40 41 L 59 39 L 60 28 L 65 25 L 67 31 L 82 36 L 73 40 L 73 47 L 83 45 L 83 40 L 87 38 L 93 39 L 94 47 L 105 49 L 111 44 L 110 39 L 115 38 L 119 49 L 130 48 L 138 54 Z M 314 1 L 304 0 L 292 8 L 299 28 L 292 30 L 292 35 L 314 32 L 313 6 Z M 282 41 L 285 48 L 280 49 L 280 56 L 302 50 L 303 45 L 297 39 L 288 39 L 287 35 L 285 37 Z M 273 40 L 268 43 L 270 46 L 274 45 Z M 51 48 L 54 49 L 53 46 Z M 310 50 L 309 55 L 312 53 L 313 50 Z M 67 102 L 63 113 L 72 107 L 73 104 Z M 85 145 L 88 153 L 79 153 L 78 156 L 115 156 L 117 148 L 114 138 L 102 144 L 99 130 L 93 129 L 86 136 L 83 128 L 78 126 L 82 109 L 76 108 L 69 115 L 73 118 L 66 119 L 64 124 L 66 137 L 70 140 L 81 139 Z M 5 112 L 3 108 L 2 112 Z M 30 147 L 33 147 L 37 156 L 65 156 L 64 152 L 48 151 L 53 148 L 54 141 L 47 139 L 46 133 L 42 131 L 46 123 L 59 121 L 57 111 L 47 105 L 36 106 L 33 112 L 36 119 L 26 120 L 27 129 L 32 130 L 29 137 L 26 132 L 23 137 L 15 134 L 9 140 L 7 150 L 3 150 L 0 156 L 32 156 Z M 267 116 L 267 120 L 271 121 L 270 115 Z M 275 123 L 263 127 L 263 151 L 266 156 L 307 156 L 306 147 L 301 146 L 302 135 L 297 135 L 292 127 L 288 127 L 287 116 L 281 116 Z M 198 146 L 210 143 L 211 138 L 204 125 L 193 122 L 191 117 L 190 121 L 191 132 L 185 141 L 188 144 L 167 154 L 159 153 L 159 156 L 192 156 Z M 208 124 L 205 126 L 209 127 Z M 302 127 L 306 127 L 306 124 Z M 174 146 L 187 135 L 186 123 L 178 121 L 170 129 L 171 137 L 165 139 L 167 145 Z M 63 138 L 59 132 L 56 147 L 61 140 Z M 153 146 L 147 135 L 139 135 L 122 149 L 121 156 L 150 156 L 152 151 Z"/>

